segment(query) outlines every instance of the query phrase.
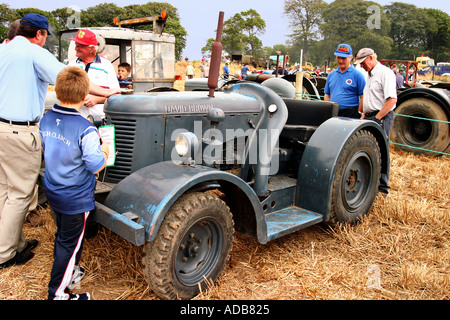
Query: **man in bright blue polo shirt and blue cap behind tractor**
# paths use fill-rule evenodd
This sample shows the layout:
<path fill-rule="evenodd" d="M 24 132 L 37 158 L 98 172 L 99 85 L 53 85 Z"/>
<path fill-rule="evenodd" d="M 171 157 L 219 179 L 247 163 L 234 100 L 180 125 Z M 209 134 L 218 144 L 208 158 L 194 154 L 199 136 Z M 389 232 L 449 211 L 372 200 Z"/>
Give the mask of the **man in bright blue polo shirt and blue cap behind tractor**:
<path fill-rule="evenodd" d="M 339 44 L 334 55 L 338 68 L 327 77 L 324 100 L 339 103 L 340 117 L 360 119 L 359 112 L 362 111 L 363 91 L 366 85 L 364 75 L 351 64 L 353 51 L 350 45 Z"/>

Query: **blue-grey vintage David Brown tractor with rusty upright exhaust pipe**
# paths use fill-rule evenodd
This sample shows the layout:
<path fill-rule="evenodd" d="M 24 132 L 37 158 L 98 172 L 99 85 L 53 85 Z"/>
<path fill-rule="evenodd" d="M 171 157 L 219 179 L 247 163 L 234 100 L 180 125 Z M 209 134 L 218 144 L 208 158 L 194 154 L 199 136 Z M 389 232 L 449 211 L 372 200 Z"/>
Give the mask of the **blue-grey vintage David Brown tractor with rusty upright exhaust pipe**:
<path fill-rule="evenodd" d="M 266 244 L 358 221 L 389 170 L 381 127 L 336 117 L 336 103 L 283 99 L 257 83 L 215 92 L 222 26 L 223 12 L 209 93 L 105 104 L 117 154 L 97 182 L 94 219 L 143 247 L 146 279 L 165 299 L 190 299 L 213 282 L 235 230 Z"/>

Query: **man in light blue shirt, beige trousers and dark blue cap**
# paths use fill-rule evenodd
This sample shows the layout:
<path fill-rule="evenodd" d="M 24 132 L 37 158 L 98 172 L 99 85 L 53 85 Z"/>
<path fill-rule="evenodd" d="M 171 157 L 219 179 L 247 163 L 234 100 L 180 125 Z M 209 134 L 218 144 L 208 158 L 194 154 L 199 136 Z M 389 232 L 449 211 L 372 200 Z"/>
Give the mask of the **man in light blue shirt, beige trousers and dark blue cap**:
<path fill-rule="evenodd" d="M 48 84 L 65 67 L 42 48 L 49 34 L 47 18 L 30 13 L 0 48 L 0 268 L 27 262 L 37 245 L 22 232 L 41 165 L 36 124 Z"/>

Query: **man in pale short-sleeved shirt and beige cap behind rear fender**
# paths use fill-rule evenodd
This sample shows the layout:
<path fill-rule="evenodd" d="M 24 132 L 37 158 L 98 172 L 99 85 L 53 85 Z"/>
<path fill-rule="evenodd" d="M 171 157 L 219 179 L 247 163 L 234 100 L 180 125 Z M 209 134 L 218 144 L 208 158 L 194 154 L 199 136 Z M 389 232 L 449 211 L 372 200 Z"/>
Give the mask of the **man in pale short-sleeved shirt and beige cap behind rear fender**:
<path fill-rule="evenodd" d="M 362 105 L 361 119 L 373 120 L 384 130 L 389 140 L 392 125 L 394 123 L 394 108 L 397 103 L 397 88 L 395 74 L 391 69 L 382 65 L 377 60 L 377 54 L 373 49 L 363 48 L 356 55 L 356 62 L 366 70 L 369 75 Z M 378 190 L 389 192 L 389 172 L 381 174 Z"/>

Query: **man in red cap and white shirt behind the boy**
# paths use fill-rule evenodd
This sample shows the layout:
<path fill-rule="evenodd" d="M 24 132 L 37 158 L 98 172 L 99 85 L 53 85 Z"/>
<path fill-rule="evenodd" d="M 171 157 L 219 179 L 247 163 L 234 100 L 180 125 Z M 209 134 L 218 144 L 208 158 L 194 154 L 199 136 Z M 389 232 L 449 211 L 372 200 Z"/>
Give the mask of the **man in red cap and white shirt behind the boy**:
<path fill-rule="evenodd" d="M 95 34 L 90 30 L 79 30 L 75 38 L 75 51 L 77 59 L 69 62 L 69 66 L 83 68 L 91 82 L 105 89 L 120 89 L 116 71 L 113 65 L 106 58 L 101 58 L 97 54 L 98 42 Z M 88 95 L 81 107 L 80 113 L 87 118 L 89 115 L 105 118 L 103 104 L 105 97 Z"/>

